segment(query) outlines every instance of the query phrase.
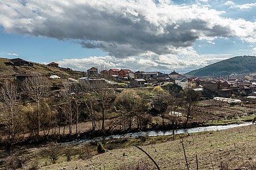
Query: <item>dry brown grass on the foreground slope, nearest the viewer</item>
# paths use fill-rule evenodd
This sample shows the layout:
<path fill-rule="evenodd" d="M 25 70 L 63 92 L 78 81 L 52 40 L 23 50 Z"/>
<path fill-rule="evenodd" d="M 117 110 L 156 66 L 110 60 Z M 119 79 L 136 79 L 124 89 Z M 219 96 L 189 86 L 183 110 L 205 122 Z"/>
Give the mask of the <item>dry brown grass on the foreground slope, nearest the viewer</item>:
<path fill-rule="evenodd" d="M 162 137 L 165 138 L 165 137 Z M 256 165 L 256 126 L 244 126 L 213 133 L 193 134 L 183 138 L 187 159 L 191 169 L 196 169 L 196 154 L 199 159 L 199 169 L 220 169 L 221 163 L 228 163 L 229 169 L 243 167 L 249 162 Z M 150 139 L 148 139 L 150 140 Z M 146 141 L 145 143 L 150 143 Z M 79 147 L 79 146 L 76 146 Z M 180 140 L 142 146 L 143 150 L 158 163 L 160 169 L 185 169 L 184 153 Z M 125 153 L 125 154 L 124 154 Z M 125 155 L 125 156 L 124 156 Z M 89 169 L 116 169 L 123 165 L 139 163 L 148 158 L 133 146 L 110 150 L 104 154 L 95 155 L 88 160 L 73 159 L 71 162 L 51 164 L 40 169 L 57 169 L 67 167 Z"/>

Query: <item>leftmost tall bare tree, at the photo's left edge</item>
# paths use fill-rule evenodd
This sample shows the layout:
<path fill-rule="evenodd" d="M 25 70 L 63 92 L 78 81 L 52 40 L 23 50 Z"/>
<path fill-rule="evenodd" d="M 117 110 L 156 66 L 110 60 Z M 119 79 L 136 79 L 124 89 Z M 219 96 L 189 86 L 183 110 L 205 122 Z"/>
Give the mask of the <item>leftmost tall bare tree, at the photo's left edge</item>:
<path fill-rule="evenodd" d="M 11 145 L 16 135 L 22 129 L 22 113 L 17 113 L 19 98 L 18 84 L 13 80 L 5 80 L 0 88 L 0 100 L 4 106 L 4 112 L 1 114 L 1 123 L 5 125 L 8 131 L 7 143 Z"/>

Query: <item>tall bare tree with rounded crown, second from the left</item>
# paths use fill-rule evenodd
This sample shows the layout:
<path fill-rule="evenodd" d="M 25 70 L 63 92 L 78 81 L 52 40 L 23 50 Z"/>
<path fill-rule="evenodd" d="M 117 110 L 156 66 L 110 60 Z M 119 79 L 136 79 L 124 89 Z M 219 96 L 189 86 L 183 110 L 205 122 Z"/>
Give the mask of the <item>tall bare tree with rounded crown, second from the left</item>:
<path fill-rule="evenodd" d="M 41 126 L 40 113 L 42 113 L 40 112 L 40 101 L 46 97 L 49 86 L 48 79 L 39 74 L 32 74 L 22 82 L 22 90 L 37 105 L 35 121 L 37 122 L 36 135 L 38 136 Z"/>

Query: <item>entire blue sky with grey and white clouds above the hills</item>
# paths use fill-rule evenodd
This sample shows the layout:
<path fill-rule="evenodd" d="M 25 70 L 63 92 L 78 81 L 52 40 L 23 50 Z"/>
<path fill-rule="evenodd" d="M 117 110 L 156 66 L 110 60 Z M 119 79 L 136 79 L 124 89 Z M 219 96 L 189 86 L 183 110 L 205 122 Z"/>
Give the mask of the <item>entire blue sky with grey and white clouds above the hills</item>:
<path fill-rule="evenodd" d="M 255 10 L 255 0 L 0 0 L 0 57 L 185 72 L 254 56 Z"/>

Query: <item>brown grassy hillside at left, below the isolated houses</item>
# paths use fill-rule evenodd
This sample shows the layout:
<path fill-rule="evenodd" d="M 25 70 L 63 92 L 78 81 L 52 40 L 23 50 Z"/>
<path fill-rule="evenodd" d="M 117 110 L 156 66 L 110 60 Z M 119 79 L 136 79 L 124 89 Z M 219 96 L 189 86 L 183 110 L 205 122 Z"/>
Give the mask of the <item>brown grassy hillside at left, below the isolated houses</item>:
<path fill-rule="evenodd" d="M 34 66 L 13 66 L 8 58 L 0 58 L 0 78 L 13 78 L 15 74 L 40 73 L 43 76 L 57 75 L 61 78 L 79 78 L 81 71 L 74 71 L 61 67 L 50 67 L 34 63 Z"/>

